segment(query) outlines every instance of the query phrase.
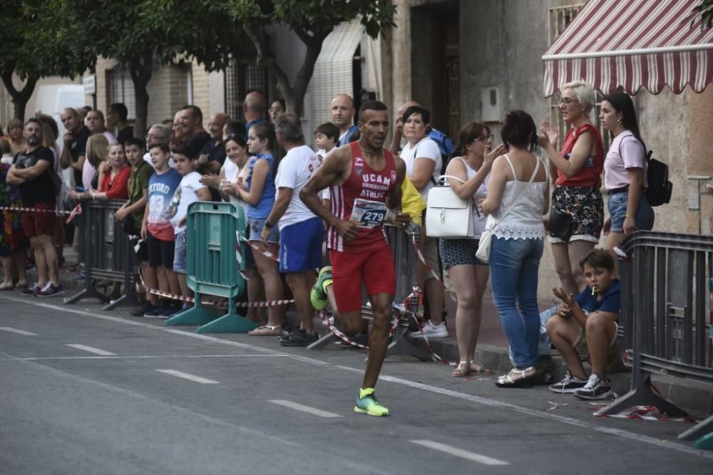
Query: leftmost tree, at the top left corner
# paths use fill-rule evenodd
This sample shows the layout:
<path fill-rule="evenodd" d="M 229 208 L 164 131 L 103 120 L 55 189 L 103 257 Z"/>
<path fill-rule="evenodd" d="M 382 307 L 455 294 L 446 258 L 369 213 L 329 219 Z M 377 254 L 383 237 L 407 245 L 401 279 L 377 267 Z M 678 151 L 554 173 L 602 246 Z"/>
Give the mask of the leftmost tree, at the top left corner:
<path fill-rule="evenodd" d="M 75 41 L 76 12 L 63 2 L 5 3 L 0 15 L 0 77 L 12 98 L 15 117 L 24 120 L 27 101 L 39 78 L 74 78 L 93 66 L 96 56 L 86 44 Z M 66 21 L 56 21 L 58 18 Z M 24 81 L 21 89 L 13 83 L 15 74 Z"/>

